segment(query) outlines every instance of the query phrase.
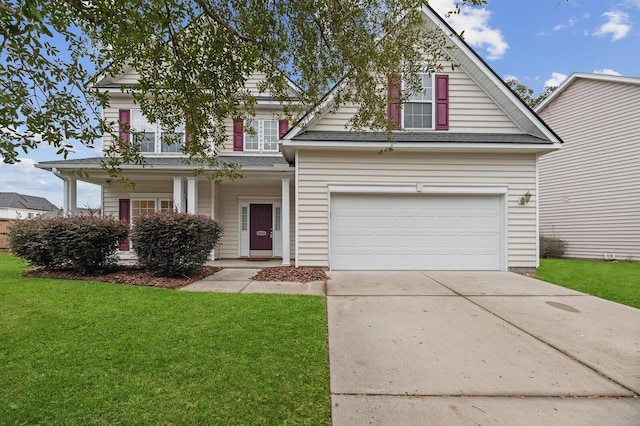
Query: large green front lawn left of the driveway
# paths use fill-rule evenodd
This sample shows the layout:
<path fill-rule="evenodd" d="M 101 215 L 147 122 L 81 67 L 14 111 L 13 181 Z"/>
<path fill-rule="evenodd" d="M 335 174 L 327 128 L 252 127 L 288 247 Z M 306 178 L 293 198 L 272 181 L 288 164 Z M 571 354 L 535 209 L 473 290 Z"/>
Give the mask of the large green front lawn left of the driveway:
<path fill-rule="evenodd" d="M 330 423 L 324 298 L 25 268 L 0 254 L 0 424 Z"/>

